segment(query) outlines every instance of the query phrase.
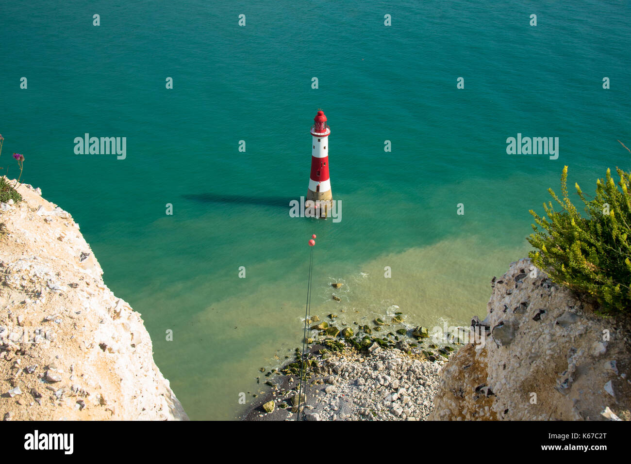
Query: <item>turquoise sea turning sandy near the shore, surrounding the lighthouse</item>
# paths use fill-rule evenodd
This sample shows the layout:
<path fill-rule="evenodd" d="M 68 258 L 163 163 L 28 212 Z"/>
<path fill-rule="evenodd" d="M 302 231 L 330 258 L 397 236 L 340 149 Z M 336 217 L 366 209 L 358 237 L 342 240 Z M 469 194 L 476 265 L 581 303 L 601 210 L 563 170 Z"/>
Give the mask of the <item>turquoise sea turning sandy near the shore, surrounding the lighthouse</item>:
<path fill-rule="evenodd" d="M 312 313 L 352 323 L 396 304 L 417 324 L 467 323 L 528 253 L 528 210 L 563 165 L 584 192 L 629 168 L 629 13 L 601 0 L 4 1 L 0 166 L 15 177 L 23 153 L 22 180 L 71 212 L 191 419 L 234 419 L 258 369 L 301 340 L 312 233 Z M 318 108 L 339 223 L 288 214 Z M 127 137 L 126 159 L 75 154 L 86 132 Z M 558 159 L 507 154 L 517 134 L 559 137 Z"/>

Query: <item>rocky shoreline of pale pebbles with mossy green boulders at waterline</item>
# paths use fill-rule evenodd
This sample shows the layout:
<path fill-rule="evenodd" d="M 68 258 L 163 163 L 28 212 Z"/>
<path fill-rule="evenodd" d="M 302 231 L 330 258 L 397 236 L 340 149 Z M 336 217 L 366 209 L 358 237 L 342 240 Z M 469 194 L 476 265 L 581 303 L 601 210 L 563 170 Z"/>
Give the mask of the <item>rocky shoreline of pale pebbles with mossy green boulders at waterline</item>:
<path fill-rule="evenodd" d="M 328 319 L 332 324 L 336 316 Z M 352 328 L 340 332 L 317 316 L 310 323 L 315 323 L 310 329 L 318 335 L 317 340 L 306 340 L 310 349 L 304 362 L 307 387 L 301 420 L 425 420 L 442 368 L 462 345 L 456 340 L 437 344 L 426 327 L 403 328 L 400 312 L 375 318 L 372 328 L 356 323 L 357 336 Z M 383 336 L 375 335 L 386 330 Z M 297 348 L 292 362 L 259 377 L 270 391 L 253 395 L 256 399 L 241 419 L 297 419 L 301 357 Z"/>

